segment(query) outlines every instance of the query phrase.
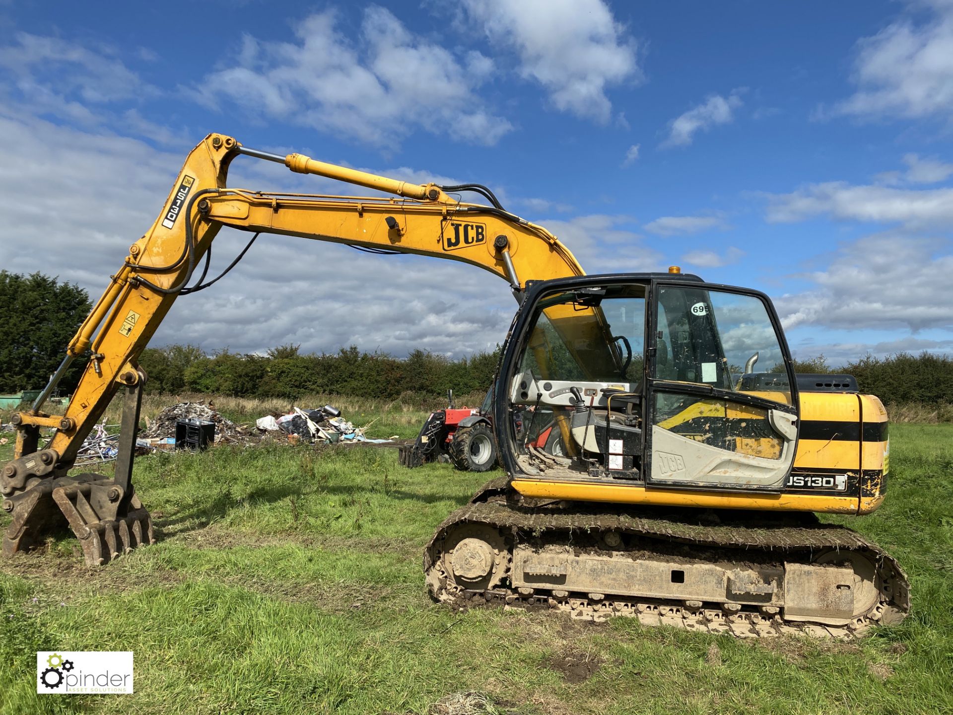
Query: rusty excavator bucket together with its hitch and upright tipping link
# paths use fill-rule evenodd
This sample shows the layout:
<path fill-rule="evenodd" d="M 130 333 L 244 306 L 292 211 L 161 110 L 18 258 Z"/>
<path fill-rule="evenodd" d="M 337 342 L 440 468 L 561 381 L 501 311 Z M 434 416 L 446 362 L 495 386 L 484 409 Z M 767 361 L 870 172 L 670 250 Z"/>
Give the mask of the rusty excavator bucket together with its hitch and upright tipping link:
<path fill-rule="evenodd" d="M 19 430 L 17 459 L 0 473 L 2 508 L 12 517 L 3 537 L 3 556 L 38 546 L 67 524 L 91 566 L 101 566 L 155 541 L 149 512 L 132 488 L 144 382 L 142 375 L 137 384 L 127 387 L 112 479 L 102 474 L 51 473 L 58 462 L 57 453 L 37 451 L 39 429 L 35 424 L 23 423 L 29 420 L 22 416 L 14 422 Z M 50 421 L 49 417 L 38 419 Z"/>

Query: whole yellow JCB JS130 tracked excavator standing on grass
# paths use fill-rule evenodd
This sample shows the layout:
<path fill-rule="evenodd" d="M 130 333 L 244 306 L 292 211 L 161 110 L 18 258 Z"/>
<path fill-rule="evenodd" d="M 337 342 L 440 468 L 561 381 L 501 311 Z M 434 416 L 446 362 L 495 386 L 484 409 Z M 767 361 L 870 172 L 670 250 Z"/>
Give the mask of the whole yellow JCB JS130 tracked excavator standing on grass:
<path fill-rule="evenodd" d="M 378 194 L 230 188 L 239 156 Z M 463 202 L 464 192 L 487 203 Z M 767 296 L 677 267 L 586 276 L 556 236 L 504 210 L 485 186 L 415 185 L 215 133 L 189 154 L 46 389 L 11 420 L 14 459 L 0 470 L 11 519 L 4 556 L 64 521 L 91 565 L 154 540 L 132 486 L 147 378 L 137 358 L 172 302 L 213 282 L 202 281 L 223 226 L 253 232 L 252 241 L 294 235 L 463 261 L 504 278 L 517 297 L 489 402 L 506 475 L 428 543 L 424 578 L 436 601 L 739 636 L 850 637 L 908 612 L 897 562 L 816 516 L 882 503 L 882 403 L 849 376 L 796 375 Z M 69 407 L 47 414 L 46 399 L 79 358 L 88 362 Z M 70 474 L 120 390 L 112 479 Z"/>

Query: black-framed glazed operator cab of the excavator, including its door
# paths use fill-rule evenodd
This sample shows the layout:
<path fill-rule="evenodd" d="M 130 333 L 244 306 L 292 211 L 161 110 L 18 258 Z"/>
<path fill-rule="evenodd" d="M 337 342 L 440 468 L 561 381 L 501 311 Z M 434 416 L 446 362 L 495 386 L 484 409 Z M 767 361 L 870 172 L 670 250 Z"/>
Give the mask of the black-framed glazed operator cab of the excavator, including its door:
<path fill-rule="evenodd" d="M 496 393 L 497 440 L 521 480 L 780 491 L 797 447 L 771 301 L 698 276 L 531 283 Z"/>

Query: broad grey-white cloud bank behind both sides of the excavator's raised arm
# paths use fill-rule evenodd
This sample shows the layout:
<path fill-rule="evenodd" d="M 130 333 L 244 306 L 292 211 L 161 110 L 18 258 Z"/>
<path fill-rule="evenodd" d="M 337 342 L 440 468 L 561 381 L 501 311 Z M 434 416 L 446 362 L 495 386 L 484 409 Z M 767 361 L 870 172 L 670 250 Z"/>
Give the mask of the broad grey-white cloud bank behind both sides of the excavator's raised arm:
<path fill-rule="evenodd" d="M 0 151 L 0 241 L 30 247 L 7 252 L 3 268 L 60 276 L 93 299 L 152 224 L 185 159 L 184 152 L 57 126 L 16 108 L 0 108 Z M 390 174 L 433 176 L 415 169 Z M 233 162 L 229 183 L 295 192 L 331 188 L 319 177 L 248 157 Z M 248 238 L 219 234 L 210 275 Z M 260 352 L 287 342 L 305 351 L 355 343 L 398 356 L 415 348 L 462 356 L 493 349 L 515 307 L 504 281 L 455 261 L 366 255 L 325 241 L 262 235 L 229 276 L 179 298 L 152 344 Z"/>

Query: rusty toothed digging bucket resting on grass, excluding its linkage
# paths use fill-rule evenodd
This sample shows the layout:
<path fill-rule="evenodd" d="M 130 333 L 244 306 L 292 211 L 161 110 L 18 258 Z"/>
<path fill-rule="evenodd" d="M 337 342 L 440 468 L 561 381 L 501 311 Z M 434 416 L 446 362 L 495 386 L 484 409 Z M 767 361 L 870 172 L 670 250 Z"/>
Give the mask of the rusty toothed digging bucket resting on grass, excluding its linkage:
<path fill-rule="evenodd" d="M 69 524 L 88 565 L 101 566 L 137 546 L 155 541 L 149 512 L 99 474 L 39 480 L 3 501 L 13 521 L 3 538 L 3 555 L 40 545 Z"/>

